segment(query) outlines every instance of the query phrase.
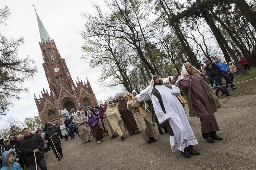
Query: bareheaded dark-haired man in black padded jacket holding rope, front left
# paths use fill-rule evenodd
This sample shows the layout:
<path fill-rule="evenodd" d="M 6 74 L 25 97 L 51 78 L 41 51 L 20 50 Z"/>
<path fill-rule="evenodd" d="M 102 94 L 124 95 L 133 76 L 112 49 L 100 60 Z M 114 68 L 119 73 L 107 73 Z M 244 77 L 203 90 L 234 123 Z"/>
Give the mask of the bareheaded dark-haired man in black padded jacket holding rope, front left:
<path fill-rule="evenodd" d="M 44 147 L 44 141 L 38 134 L 32 134 L 29 128 L 25 127 L 22 130 L 24 139 L 20 142 L 20 149 L 25 155 L 27 165 L 31 170 L 35 170 L 35 158 L 37 159 L 37 165 L 41 170 L 47 170 L 44 155 L 41 153 Z M 40 152 L 39 152 L 40 151 Z M 35 153 L 35 158 L 34 158 Z"/>

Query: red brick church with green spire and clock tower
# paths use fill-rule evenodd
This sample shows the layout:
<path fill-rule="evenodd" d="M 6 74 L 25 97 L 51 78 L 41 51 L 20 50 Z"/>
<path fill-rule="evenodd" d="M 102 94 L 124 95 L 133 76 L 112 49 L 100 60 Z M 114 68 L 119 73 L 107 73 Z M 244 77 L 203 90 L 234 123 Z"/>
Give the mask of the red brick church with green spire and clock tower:
<path fill-rule="evenodd" d="M 55 41 L 50 38 L 36 10 L 35 13 L 41 38 L 42 65 L 50 91 L 43 89 L 39 98 L 34 94 L 34 99 L 42 125 L 45 125 L 48 121 L 60 122 L 63 119 L 60 110 L 66 108 L 71 115 L 78 110 L 84 112 L 98 102 L 87 78 L 86 82 L 77 79 L 74 84 L 65 59 L 61 58 Z"/>

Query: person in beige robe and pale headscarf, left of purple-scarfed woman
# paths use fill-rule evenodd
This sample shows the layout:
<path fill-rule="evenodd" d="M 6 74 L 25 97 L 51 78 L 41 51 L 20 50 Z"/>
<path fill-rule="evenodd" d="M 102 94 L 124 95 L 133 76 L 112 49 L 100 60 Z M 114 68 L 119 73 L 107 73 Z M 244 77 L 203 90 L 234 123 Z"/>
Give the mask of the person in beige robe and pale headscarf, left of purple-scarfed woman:
<path fill-rule="evenodd" d="M 82 143 L 90 142 L 91 140 L 91 136 L 89 134 L 90 128 L 86 124 L 86 116 L 80 111 L 77 111 L 74 116 L 74 123 L 78 127 L 78 131 L 79 131 Z"/>

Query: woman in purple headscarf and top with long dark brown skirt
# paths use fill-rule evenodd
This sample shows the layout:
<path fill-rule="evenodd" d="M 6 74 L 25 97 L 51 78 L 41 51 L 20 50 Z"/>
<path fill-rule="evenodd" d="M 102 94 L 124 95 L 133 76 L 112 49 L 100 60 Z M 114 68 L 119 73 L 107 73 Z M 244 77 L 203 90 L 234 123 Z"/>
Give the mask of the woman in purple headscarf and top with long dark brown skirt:
<path fill-rule="evenodd" d="M 91 111 L 87 111 L 87 124 L 90 126 L 91 130 L 93 131 L 93 135 L 95 137 L 95 141 L 98 141 L 98 144 L 102 142 L 103 135 L 101 132 L 101 128 L 98 125 L 99 119 Z"/>

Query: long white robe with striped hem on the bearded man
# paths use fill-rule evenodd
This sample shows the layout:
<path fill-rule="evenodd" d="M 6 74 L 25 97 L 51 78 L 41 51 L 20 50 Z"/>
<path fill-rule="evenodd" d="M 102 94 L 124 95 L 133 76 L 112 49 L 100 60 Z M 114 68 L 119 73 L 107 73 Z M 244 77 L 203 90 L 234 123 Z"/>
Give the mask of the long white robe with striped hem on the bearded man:
<path fill-rule="evenodd" d="M 153 107 L 159 123 L 168 121 L 172 127 L 174 133 L 174 136 L 170 136 L 172 152 L 184 151 L 188 145 L 198 144 L 187 120 L 185 110 L 176 97 L 180 95 L 180 89 L 174 85 L 172 85 L 172 89 L 165 87 L 165 85 L 155 85 L 155 88 L 161 95 L 167 113 L 163 112 L 158 98 L 152 94 Z M 170 119 L 167 120 L 168 118 Z"/>

